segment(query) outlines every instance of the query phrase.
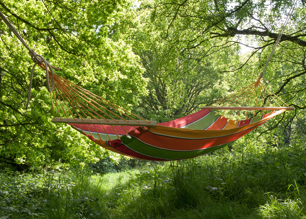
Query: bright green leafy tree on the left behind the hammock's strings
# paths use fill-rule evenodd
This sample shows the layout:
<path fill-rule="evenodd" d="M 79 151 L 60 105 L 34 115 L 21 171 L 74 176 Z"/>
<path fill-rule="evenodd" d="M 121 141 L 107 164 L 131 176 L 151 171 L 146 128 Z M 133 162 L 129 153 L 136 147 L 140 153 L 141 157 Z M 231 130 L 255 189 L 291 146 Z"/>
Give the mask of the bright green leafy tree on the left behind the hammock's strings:
<path fill-rule="evenodd" d="M 14 1 L 0 10 L 31 48 L 58 75 L 117 105 L 131 108 L 145 91 L 138 57 L 123 41 L 112 40 L 113 19 L 126 1 Z M 50 123 L 50 98 L 43 71 L 36 69 L 30 107 L 25 110 L 32 61 L 3 21 L 0 22 L 0 157 L 21 168 L 58 160 L 89 162 L 105 153 L 64 125 Z M 138 90 L 138 94 L 133 94 Z M 4 121 L 4 123 L 2 123 Z"/>

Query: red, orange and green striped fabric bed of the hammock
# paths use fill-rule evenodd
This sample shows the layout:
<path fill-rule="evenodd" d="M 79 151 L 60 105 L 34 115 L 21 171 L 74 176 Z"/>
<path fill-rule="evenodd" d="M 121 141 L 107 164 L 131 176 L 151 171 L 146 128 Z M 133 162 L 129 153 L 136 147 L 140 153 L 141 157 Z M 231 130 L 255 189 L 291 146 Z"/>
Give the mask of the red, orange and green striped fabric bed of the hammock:
<path fill-rule="evenodd" d="M 284 112 L 279 110 L 251 119 L 233 121 L 203 109 L 191 115 L 178 118 L 156 127 L 122 127 L 70 124 L 101 147 L 110 151 L 145 160 L 166 161 L 197 157 L 223 148 L 237 140 L 273 116 Z M 108 131 L 106 131 L 108 130 Z M 120 138 L 117 138 L 115 131 Z M 114 140 L 107 139 L 111 135 Z M 101 139 L 99 139 L 101 137 Z"/>

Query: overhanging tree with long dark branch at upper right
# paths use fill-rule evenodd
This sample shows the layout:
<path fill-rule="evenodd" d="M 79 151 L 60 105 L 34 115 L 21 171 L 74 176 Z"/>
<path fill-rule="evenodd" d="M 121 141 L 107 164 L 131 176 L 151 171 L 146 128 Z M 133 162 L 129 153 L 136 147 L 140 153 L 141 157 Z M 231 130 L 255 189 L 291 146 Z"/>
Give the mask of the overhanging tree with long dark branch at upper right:
<path fill-rule="evenodd" d="M 237 3 L 184 0 L 156 1 L 154 5 L 146 7 L 152 10 L 154 19 L 167 20 L 164 40 L 172 45 L 184 44 L 183 52 L 185 50 L 191 52 L 195 48 L 201 47 L 202 52 L 205 53 L 211 48 L 207 46 L 209 42 L 221 38 L 225 39 L 227 44 L 244 44 L 241 36 L 246 36 L 247 43 L 258 42 L 256 47 L 249 46 L 254 48 L 250 56 L 259 54 L 260 67 L 263 68 L 267 55 L 282 28 L 282 19 L 285 18 L 287 10 L 292 4 L 291 1 L 267 2 L 265 0 L 258 2 L 246 0 Z M 278 51 L 273 56 L 272 61 L 278 59 L 277 62 L 294 63 L 299 68 L 298 71 L 292 72 L 293 75 L 284 75 L 285 81 L 276 91 L 277 93 L 281 92 L 288 81 L 303 77 L 305 74 L 305 60 L 303 58 L 306 47 L 305 10 L 302 4 L 297 3 L 294 13 L 291 15 L 292 25 L 287 27 L 287 31 L 281 38 Z M 171 37 L 170 32 L 173 32 L 172 35 L 177 37 Z M 219 43 L 220 49 L 222 49 L 221 46 L 224 45 Z M 235 71 L 243 67 L 244 64 L 242 63 L 242 66 L 237 67 Z M 271 81 L 269 77 L 272 79 L 274 76 L 267 73 L 266 77 L 268 81 Z"/>

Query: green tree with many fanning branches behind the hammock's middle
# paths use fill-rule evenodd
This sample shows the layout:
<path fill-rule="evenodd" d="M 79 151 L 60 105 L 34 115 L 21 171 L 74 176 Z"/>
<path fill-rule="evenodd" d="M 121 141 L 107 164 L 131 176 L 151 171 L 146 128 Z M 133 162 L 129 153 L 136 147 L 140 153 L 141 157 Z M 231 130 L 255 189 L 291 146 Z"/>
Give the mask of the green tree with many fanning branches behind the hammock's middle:
<path fill-rule="evenodd" d="M 133 22 L 127 25 L 125 20 L 131 17 Z M 164 40 L 168 21 L 163 18 L 144 7 L 130 9 L 116 20 L 117 32 L 114 32 L 114 37 L 132 44 L 145 69 L 143 76 L 148 80 L 148 94 L 141 96 L 134 111 L 159 122 L 188 115 L 220 98 L 227 91 L 224 82 L 221 83 L 221 71 L 234 66 L 228 60 L 238 60 L 239 50 L 235 45 L 225 45 L 219 52 L 218 43 L 226 43 L 221 39 L 203 45 L 211 46 L 205 52 L 201 46 L 189 52 L 183 42 L 178 42 L 188 35 L 169 30 L 169 37 L 176 43 Z"/>

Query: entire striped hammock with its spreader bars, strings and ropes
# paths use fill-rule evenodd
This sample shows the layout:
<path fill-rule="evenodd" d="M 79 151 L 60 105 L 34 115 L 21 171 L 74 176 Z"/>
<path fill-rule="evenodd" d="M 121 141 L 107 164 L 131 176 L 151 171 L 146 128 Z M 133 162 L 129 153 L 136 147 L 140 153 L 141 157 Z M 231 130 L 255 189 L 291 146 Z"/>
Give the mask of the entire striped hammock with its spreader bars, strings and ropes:
<path fill-rule="evenodd" d="M 291 13 L 292 11 L 289 14 Z M 101 147 L 122 155 L 156 161 L 197 157 L 241 138 L 279 113 L 294 110 L 261 83 L 263 73 L 282 34 L 279 35 L 257 82 L 218 101 L 216 106 L 205 107 L 191 115 L 157 124 L 156 121 L 142 119 L 54 74 L 52 69 L 57 68 L 31 50 L 1 11 L 0 16 L 28 48 L 35 62 L 31 72 L 27 106 L 34 68 L 39 65 L 46 71 L 54 117 L 52 121 L 67 123 Z M 285 27 L 286 25 L 283 31 Z M 51 88 L 49 83 L 52 83 Z M 286 107 L 282 107 L 278 103 L 280 101 Z M 269 107 L 265 106 L 267 104 Z"/>

